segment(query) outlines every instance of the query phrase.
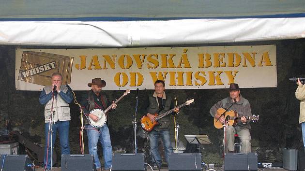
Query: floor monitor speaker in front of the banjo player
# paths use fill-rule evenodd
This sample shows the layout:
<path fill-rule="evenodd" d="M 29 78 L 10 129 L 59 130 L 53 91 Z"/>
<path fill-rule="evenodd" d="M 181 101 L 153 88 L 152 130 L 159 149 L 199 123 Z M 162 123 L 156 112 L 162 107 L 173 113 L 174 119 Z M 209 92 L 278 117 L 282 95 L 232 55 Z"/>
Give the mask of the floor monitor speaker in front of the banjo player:
<path fill-rule="evenodd" d="M 61 155 L 61 171 L 95 171 L 93 155 Z"/>

